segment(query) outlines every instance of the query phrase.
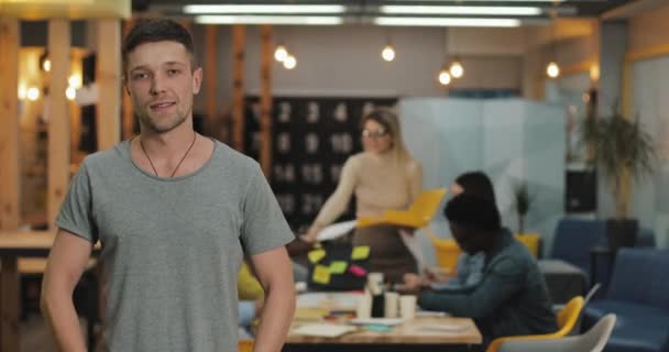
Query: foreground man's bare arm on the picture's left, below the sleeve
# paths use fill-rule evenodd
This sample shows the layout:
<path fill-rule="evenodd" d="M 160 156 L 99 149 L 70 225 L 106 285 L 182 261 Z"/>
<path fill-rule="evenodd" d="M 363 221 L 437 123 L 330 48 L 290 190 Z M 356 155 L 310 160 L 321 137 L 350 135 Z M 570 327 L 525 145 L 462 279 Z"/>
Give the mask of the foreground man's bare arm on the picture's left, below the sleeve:
<path fill-rule="evenodd" d="M 86 270 L 91 250 L 89 241 L 59 230 L 48 254 L 41 307 L 59 351 L 86 351 L 73 292 Z"/>

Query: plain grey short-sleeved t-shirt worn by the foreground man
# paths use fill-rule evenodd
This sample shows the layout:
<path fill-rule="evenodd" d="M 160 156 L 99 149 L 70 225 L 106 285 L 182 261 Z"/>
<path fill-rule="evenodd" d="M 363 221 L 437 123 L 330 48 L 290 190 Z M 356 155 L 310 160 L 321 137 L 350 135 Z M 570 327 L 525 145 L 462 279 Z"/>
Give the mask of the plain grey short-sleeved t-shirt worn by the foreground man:
<path fill-rule="evenodd" d="M 139 168 L 128 141 L 88 156 L 58 228 L 102 244 L 105 350 L 237 351 L 244 254 L 294 240 L 257 163 L 216 142 L 191 175 Z"/>

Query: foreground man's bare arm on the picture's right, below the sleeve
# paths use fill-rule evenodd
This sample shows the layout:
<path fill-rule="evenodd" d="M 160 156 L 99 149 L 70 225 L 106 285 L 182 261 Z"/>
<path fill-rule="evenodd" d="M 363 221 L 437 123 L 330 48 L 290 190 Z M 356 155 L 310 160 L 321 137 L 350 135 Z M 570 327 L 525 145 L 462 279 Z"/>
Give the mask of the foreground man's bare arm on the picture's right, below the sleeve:
<path fill-rule="evenodd" d="M 295 312 L 295 283 L 285 246 L 251 256 L 265 302 L 253 346 L 254 352 L 281 351 Z"/>

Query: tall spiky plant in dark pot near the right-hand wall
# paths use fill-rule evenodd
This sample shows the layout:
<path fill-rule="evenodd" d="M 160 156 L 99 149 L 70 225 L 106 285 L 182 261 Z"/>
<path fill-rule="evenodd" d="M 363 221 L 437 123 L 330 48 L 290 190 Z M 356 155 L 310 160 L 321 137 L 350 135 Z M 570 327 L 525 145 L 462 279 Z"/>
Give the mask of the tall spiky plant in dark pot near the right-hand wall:
<path fill-rule="evenodd" d="M 639 119 L 624 117 L 617 107 L 611 117 L 597 118 L 590 109 L 583 124 L 589 164 L 596 168 L 615 200 L 615 218 L 606 221 L 611 249 L 633 246 L 638 222 L 629 218 L 630 182 L 643 180 L 655 169 L 652 138 Z"/>

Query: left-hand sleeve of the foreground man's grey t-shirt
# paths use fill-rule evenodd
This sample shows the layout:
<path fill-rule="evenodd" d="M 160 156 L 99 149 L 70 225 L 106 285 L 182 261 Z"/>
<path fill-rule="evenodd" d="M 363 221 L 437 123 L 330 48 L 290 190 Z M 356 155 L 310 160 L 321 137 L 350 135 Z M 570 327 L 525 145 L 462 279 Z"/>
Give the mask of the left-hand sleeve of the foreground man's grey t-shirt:
<path fill-rule="evenodd" d="M 98 230 L 92 217 L 91 199 L 90 178 L 84 162 L 69 184 L 69 190 L 56 217 L 56 226 L 96 243 Z"/>

